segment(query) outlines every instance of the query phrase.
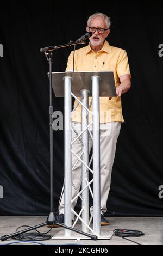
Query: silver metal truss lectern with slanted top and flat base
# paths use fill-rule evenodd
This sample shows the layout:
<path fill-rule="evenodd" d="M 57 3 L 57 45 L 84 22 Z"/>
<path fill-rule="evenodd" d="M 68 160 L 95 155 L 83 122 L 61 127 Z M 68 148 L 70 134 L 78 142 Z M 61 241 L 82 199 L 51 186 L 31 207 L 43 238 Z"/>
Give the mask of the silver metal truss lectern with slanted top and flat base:
<path fill-rule="evenodd" d="M 52 73 L 52 88 L 56 97 L 65 98 L 65 225 L 72 227 L 71 214 L 77 218 L 73 224 L 76 225 L 77 221 L 82 221 L 82 231 L 90 232 L 96 235 L 98 239 L 110 239 L 112 231 L 101 232 L 101 198 L 100 198 L 100 140 L 99 140 L 99 97 L 112 97 L 116 96 L 114 74 L 112 71 L 98 71 L 98 72 L 55 72 Z M 89 96 L 92 96 L 92 101 L 89 105 Z M 72 111 L 72 97 L 77 100 L 77 105 Z M 80 97 L 80 99 L 78 98 Z M 81 99 L 82 98 L 82 99 Z M 78 134 L 75 127 L 72 126 L 71 115 L 76 110 L 78 105 L 82 105 L 82 132 Z M 92 111 L 90 110 L 92 105 Z M 89 123 L 88 115 L 92 115 L 92 121 Z M 90 133 L 90 126 L 92 125 L 92 134 Z M 72 129 L 77 137 L 71 141 Z M 91 160 L 89 163 L 89 144 L 88 136 L 92 138 L 93 145 L 93 170 L 90 168 Z M 72 151 L 72 144 L 80 140 L 82 144 L 82 153 L 78 156 Z M 76 156 L 77 162 L 82 163 L 82 189 L 77 191 L 72 183 L 71 173 L 76 164 L 72 167 L 71 157 L 72 154 Z M 89 181 L 89 171 L 93 174 L 93 179 Z M 93 183 L 93 191 L 91 184 Z M 77 191 L 77 196 L 71 198 L 72 186 Z M 90 227 L 92 218 L 89 219 L 89 191 L 93 197 L 93 229 Z M 72 209 L 72 202 L 77 197 L 82 199 L 82 209 L 77 214 Z M 88 239 L 83 235 L 74 234 L 73 231 L 65 229 L 53 237 L 54 239 Z"/>

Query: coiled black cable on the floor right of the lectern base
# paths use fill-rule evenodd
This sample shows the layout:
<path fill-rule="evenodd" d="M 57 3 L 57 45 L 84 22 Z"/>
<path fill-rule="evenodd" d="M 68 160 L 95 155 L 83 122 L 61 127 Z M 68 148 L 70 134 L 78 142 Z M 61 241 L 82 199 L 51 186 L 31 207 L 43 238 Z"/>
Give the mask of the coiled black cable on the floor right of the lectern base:
<path fill-rule="evenodd" d="M 113 232 L 116 236 L 120 236 L 121 238 L 126 239 L 126 240 L 131 241 L 131 242 L 134 242 L 137 245 L 142 245 L 142 244 L 137 243 L 133 240 L 127 239 L 126 237 L 139 237 L 139 236 L 145 235 L 144 233 L 142 233 L 142 231 L 131 230 L 131 229 L 115 229 L 115 230 L 113 230 Z"/>

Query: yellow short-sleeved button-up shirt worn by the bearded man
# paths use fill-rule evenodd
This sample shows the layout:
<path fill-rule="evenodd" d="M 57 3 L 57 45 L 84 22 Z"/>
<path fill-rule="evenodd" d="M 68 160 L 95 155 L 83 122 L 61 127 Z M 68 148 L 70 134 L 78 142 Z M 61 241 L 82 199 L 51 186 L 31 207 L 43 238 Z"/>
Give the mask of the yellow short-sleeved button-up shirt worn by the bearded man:
<path fill-rule="evenodd" d="M 70 53 L 66 70 L 73 70 L 73 51 Z M 92 51 L 90 44 L 76 50 L 74 58 L 75 71 L 113 71 L 115 86 L 120 84 L 121 75 L 130 75 L 128 57 L 126 51 L 121 48 L 110 46 L 105 40 L 99 52 Z M 91 97 L 89 97 L 89 102 Z M 77 101 L 74 102 L 74 106 Z M 123 122 L 121 97 L 100 97 L 100 123 Z M 91 108 L 92 111 L 92 108 Z M 79 104 L 76 111 L 72 114 L 72 121 L 82 122 L 82 106 Z M 92 117 L 89 114 L 89 122 Z"/>

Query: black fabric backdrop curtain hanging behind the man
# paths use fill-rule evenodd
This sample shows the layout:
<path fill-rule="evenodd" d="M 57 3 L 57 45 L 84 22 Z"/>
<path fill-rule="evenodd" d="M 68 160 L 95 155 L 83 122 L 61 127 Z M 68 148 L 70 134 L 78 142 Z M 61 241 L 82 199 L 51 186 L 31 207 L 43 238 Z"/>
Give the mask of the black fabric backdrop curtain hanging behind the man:
<path fill-rule="evenodd" d="M 72 2 L 67 6 L 48 0 L 1 3 L 0 214 L 49 212 L 48 62 L 39 49 L 76 40 L 85 33 L 87 17 L 101 11 L 112 21 L 109 44 L 127 51 L 132 76 L 131 89 L 122 96 L 125 123 L 118 138 L 106 215 L 163 216 L 159 198 L 162 5 L 156 1 L 93 1 L 90 7 L 85 1 L 74 3 L 74 8 Z M 53 71 L 65 71 L 72 50 L 54 52 Z M 64 112 L 63 99 L 53 95 L 53 105 L 54 111 Z M 55 210 L 63 178 L 64 132 L 54 131 Z"/>

